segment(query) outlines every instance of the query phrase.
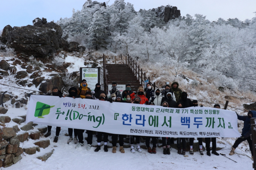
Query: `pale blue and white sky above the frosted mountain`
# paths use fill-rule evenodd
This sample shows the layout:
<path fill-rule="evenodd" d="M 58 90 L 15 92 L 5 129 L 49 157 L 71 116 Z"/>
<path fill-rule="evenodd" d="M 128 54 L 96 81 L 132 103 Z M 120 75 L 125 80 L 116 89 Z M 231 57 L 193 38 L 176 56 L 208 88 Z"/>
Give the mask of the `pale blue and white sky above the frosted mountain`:
<path fill-rule="evenodd" d="M 60 18 L 71 17 L 72 9 L 81 10 L 86 0 L 1 0 L 0 29 L 6 25 L 32 25 L 35 18 L 47 18 L 47 21 L 57 21 Z M 98 0 L 106 2 L 106 0 Z M 110 0 L 108 5 L 114 0 Z M 256 12 L 256 0 L 125 0 L 134 4 L 136 11 L 140 9 L 157 8 L 158 6 L 177 6 L 181 16 L 202 14 L 210 21 L 223 18 L 238 18 L 244 21 L 252 19 Z"/>

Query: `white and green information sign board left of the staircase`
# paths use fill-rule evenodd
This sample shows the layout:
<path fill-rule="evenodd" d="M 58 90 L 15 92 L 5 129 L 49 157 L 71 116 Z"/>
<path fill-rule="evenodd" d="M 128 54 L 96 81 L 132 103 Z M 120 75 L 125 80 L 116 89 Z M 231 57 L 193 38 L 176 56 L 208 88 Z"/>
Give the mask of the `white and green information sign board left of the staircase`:
<path fill-rule="evenodd" d="M 82 79 L 85 79 L 88 87 L 94 90 L 95 84 L 99 81 L 98 68 L 82 68 Z"/>

